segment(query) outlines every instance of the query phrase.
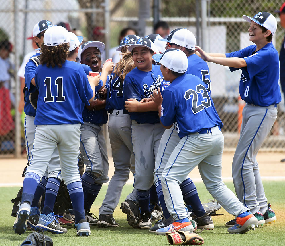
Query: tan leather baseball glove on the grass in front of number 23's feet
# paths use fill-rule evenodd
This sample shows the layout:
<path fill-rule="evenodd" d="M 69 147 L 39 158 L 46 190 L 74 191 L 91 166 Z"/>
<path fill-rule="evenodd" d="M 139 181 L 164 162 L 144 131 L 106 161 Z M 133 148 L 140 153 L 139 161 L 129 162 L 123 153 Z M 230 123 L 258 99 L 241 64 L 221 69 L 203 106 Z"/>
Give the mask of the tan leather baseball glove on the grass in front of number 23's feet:
<path fill-rule="evenodd" d="M 171 245 L 202 245 L 204 239 L 194 232 L 175 230 L 166 232 L 166 237 Z"/>

